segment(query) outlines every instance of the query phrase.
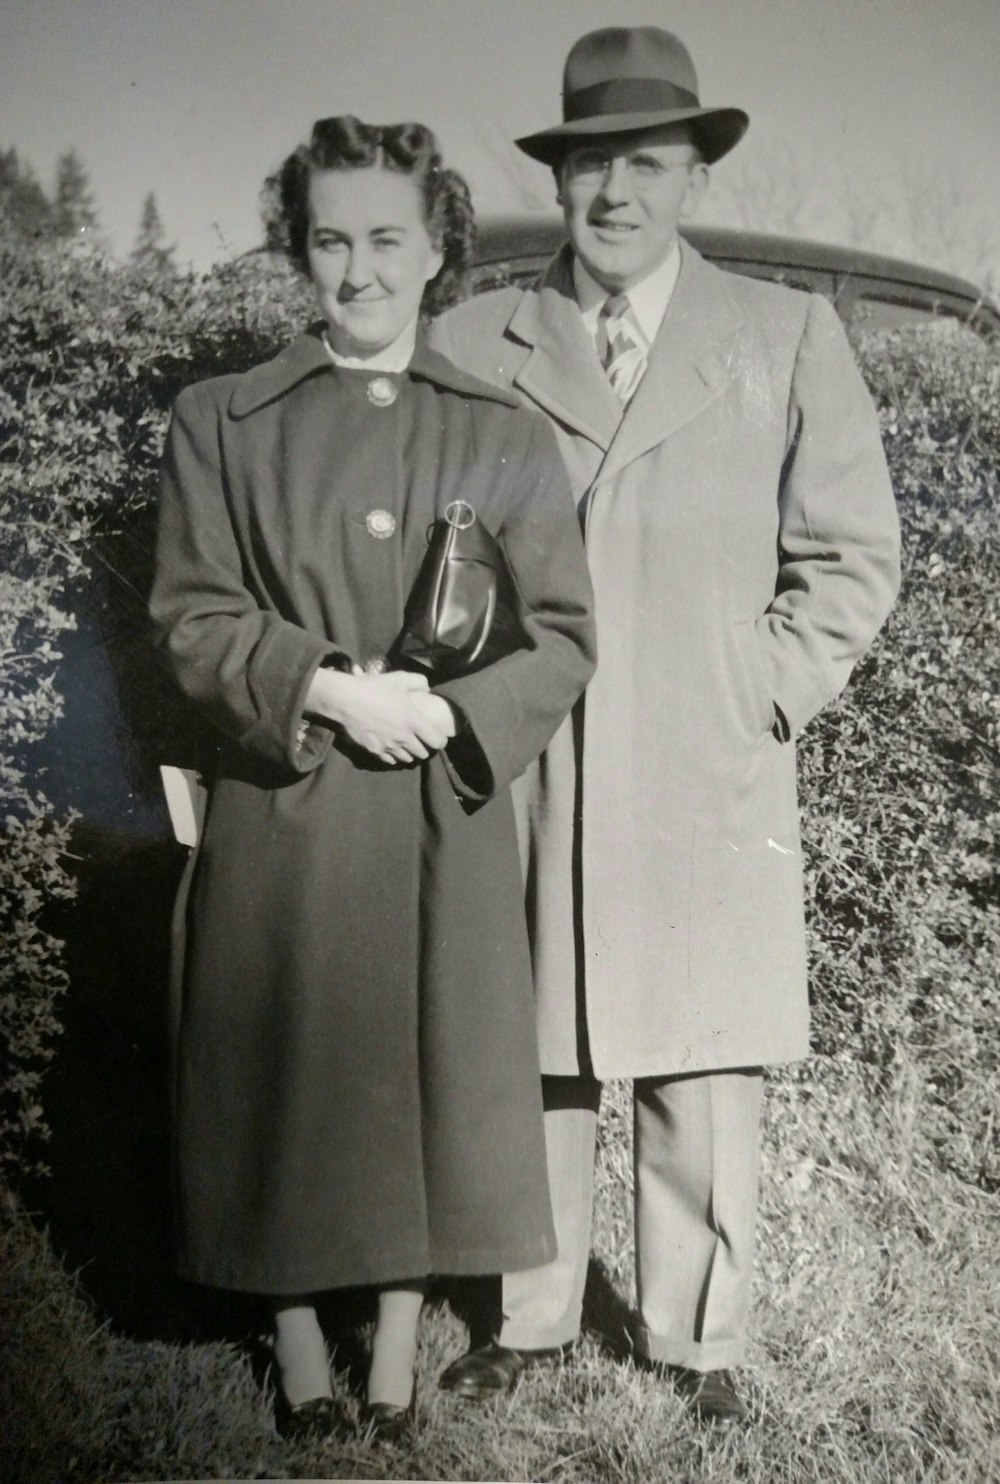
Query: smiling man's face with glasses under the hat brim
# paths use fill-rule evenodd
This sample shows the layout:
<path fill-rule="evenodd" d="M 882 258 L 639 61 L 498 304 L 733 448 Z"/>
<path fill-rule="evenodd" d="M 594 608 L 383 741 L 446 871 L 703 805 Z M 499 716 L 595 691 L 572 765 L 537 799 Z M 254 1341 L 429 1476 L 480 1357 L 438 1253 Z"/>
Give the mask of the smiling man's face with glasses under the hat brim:
<path fill-rule="evenodd" d="M 678 223 L 708 184 L 690 131 L 665 125 L 595 135 L 558 171 L 573 251 L 608 292 L 625 292 L 663 263 Z"/>

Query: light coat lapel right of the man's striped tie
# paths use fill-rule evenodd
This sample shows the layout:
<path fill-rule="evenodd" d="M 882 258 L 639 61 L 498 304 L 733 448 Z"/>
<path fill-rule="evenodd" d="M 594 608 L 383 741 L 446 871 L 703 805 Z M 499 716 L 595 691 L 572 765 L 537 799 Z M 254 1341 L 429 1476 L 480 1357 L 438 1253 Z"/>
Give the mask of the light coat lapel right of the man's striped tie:
<path fill-rule="evenodd" d="M 734 375 L 740 315 L 726 275 L 681 243 L 681 273 L 650 347 L 645 375 L 608 448 L 601 478 L 677 433 L 726 390 Z"/>

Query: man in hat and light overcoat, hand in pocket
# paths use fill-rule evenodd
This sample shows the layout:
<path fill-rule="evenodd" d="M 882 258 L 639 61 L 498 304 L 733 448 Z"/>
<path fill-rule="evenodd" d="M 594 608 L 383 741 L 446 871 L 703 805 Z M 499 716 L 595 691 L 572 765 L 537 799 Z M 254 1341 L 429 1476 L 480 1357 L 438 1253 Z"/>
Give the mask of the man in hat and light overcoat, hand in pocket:
<path fill-rule="evenodd" d="M 522 792 L 558 1258 L 503 1281 L 482 1398 L 580 1325 L 601 1082 L 634 1079 L 635 1352 L 745 1416 L 763 1067 L 809 1049 L 797 733 L 896 594 L 877 418 L 834 310 L 677 229 L 742 137 L 681 42 L 585 36 L 552 166 L 568 245 L 438 344 L 542 408 L 580 502 L 599 665 Z"/>

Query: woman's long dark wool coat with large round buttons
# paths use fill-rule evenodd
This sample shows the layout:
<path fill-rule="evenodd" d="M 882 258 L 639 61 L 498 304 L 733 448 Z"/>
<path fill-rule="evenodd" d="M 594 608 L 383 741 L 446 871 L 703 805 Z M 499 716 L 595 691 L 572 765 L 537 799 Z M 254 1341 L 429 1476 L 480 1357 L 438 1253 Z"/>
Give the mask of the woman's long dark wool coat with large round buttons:
<path fill-rule="evenodd" d="M 506 393 L 421 347 L 390 405 L 372 380 L 310 332 L 188 387 L 163 463 L 151 613 L 226 738 L 178 911 L 180 1260 L 260 1293 L 553 1255 L 507 785 L 592 671 L 579 522 Z M 457 496 L 528 647 L 439 687 L 464 763 L 386 767 L 304 697 L 320 662 L 386 654 Z"/>

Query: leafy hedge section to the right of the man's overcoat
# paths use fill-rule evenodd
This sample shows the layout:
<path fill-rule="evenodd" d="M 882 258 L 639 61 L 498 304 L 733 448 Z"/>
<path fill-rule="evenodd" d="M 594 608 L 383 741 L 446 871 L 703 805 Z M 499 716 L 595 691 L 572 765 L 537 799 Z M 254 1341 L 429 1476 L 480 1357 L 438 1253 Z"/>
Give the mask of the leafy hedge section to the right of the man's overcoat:
<path fill-rule="evenodd" d="M 944 324 L 858 349 L 904 585 L 801 748 L 816 1046 L 915 1061 L 939 1158 L 996 1189 L 1000 358 Z"/>

